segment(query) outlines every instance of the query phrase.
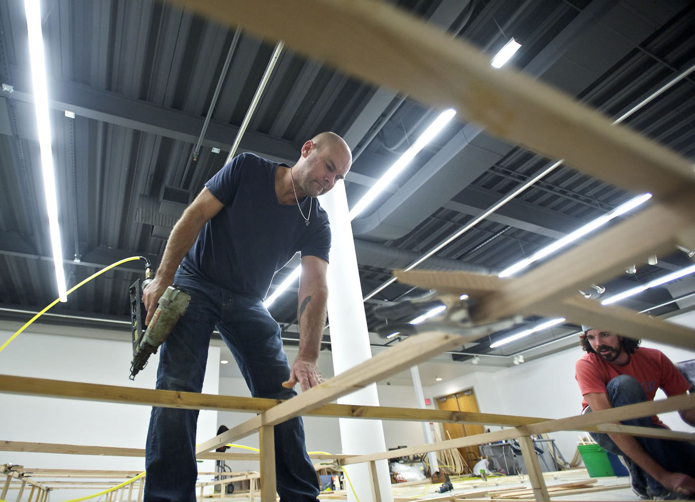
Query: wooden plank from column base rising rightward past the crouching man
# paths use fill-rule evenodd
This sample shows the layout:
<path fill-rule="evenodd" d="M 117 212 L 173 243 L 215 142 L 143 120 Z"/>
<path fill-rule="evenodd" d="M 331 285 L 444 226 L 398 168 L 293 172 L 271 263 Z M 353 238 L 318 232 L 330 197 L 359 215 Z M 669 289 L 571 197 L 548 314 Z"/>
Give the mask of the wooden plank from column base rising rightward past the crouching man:
<path fill-rule="evenodd" d="M 535 435 L 557 432 L 557 430 L 584 430 L 589 426 L 598 424 L 610 424 L 611 422 L 628 420 L 637 417 L 650 417 L 657 413 L 665 413 L 675 410 L 687 410 L 695 408 L 695 394 L 682 394 L 680 396 L 669 397 L 647 403 L 637 403 L 610 410 L 601 410 L 587 415 L 575 415 L 562 419 L 550 420 L 540 424 L 521 426 L 505 430 L 496 430 L 492 433 L 476 434 L 468 437 L 459 437 L 455 440 L 442 441 L 420 446 L 410 446 L 394 451 L 382 453 L 369 453 L 359 455 L 341 461 L 342 465 L 359 464 L 370 460 L 381 460 L 384 458 L 395 458 L 419 453 L 429 453 L 430 451 L 441 451 L 463 446 L 475 446 L 477 444 L 491 443 L 503 440 L 512 440 L 524 435 Z M 640 428 L 644 430 L 644 435 L 651 435 L 651 428 Z M 641 435 L 641 434 L 640 434 Z"/>

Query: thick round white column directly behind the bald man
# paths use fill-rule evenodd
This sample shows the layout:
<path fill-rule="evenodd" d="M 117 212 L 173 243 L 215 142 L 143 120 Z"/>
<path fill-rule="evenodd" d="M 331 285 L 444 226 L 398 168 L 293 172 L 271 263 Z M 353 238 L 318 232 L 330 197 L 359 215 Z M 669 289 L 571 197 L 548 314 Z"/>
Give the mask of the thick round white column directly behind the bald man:
<path fill-rule="evenodd" d="M 331 331 L 333 368 L 336 375 L 372 357 L 369 346 L 367 319 L 364 314 L 362 290 L 357 271 L 357 257 L 350 215 L 347 210 L 345 184 L 338 183 L 328 194 L 319 197 L 321 206 L 331 222 L 332 244 L 328 266 L 328 317 Z M 379 405 L 376 384 L 338 399 L 341 404 Z M 338 419 L 341 428 L 343 453 L 361 454 L 386 451 L 381 420 Z M 361 502 L 373 500 L 369 466 L 350 465 L 346 468 L 352 487 Z M 391 475 L 386 460 L 377 461 L 377 477 L 382 501 L 393 501 Z M 355 501 L 347 486 L 347 500 Z"/>

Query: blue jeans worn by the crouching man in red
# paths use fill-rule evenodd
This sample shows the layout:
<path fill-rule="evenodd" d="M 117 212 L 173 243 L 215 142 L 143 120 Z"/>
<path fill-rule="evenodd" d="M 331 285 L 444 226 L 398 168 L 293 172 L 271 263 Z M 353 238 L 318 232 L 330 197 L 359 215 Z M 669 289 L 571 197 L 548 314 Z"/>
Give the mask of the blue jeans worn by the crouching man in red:
<path fill-rule="evenodd" d="M 629 375 L 619 375 L 610 380 L 606 385 L 608 399 L 613 407 L 625 406 L 628 404 L 642 403 L 646 401 L 644 389 L 635 378 Z M 652 417 L 641 417 L 637 419 L 623 420 L 621 424 L 626 426 L 657 427 L 652 421 Z M 591 433 L 591 437 L 603 449 L 625 455 L 607 434 Z M 695 445 L 683 441 L 660 440 L 653 437 L 637 437 L 635 439 L 641 444 L 644 451 L 648 453 L 658 464 L 670 472 L 680 472 L 689 476 L 695 476 Z M 641 485 L 645 485 L 650 495 L 660 495 L 667 492 L 666 488 L 657 480 L 649 476 L 646 472 L 635 465 L 638 474 L 644 476 L 637 480 Z"/>

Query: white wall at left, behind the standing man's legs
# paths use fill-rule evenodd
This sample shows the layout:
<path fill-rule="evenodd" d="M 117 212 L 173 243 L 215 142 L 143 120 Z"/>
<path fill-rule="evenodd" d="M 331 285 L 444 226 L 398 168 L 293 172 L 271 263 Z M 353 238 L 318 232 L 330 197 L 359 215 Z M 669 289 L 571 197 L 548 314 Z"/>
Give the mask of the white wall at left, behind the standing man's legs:
<path fill-rule="evenodd" d="M 66 330 L 56 327 L 52 331 Z M 4 342 L 13 333 L 0 329 L 0 340 Z M 126 330 L 119 334 L 123 341 L 21 333 L 0 352 L 0 374 L 154 388 L 158 355 L 150 358 L 136 380 L 129 380 L 129 333 Z M 219 348 L 211 347 L 203 392 L 218 393 L 219 359 Z M 144 449 L 150 410 L 144 405 L 0 394 L 0 440 Z M 217 412 L 201 412 L 198 440 L 208 440 L 216 432 Z M 0 463 L 35 468 L 145 469 L 144 458 L 10 451 L 0 452 Z M 214 462 L 207 460 L 199 464 L 199 469 L 213 471 Z M 74 499 L 98 491 L 59 490 L 52 499 Z M 92 500 L 104 499 L 101 496 Z"/>

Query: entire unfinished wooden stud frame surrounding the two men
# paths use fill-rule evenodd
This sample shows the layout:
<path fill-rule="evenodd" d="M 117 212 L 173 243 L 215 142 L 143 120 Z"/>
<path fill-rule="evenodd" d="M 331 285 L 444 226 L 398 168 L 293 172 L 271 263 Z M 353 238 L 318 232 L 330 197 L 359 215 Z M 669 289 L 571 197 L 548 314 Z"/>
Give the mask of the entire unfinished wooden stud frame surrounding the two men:
<path fill-rule="evenodd" d="M 596 303 L 575 297 L 578 286 L 600 283 L 628 264 L 644 262 L 653 253 L 673 249 L 678 243 L 695 247 L 692 224 L 695 219 L 695 171 L 688 160 L 628 128 L 612 125 L 610 119 L 598 112 L 514 69 L 492 69 L 488 56 L 478 53 L 461 40 L 452 40 L 438 28 L 400 12 L 387 3 L 375 0 L 176 0 L 176 3 L 213 17 L 218 22 L 243 26 L 261 37 L 284 40 L 288 47 L 306 56 L 327 62 L 370 83 L 389 85 L 430 106 L 457 108 L 467 119 L 506 140 L 523 144 L 550 158 L 563 158 L 576 169 L 614 185 L 638 192 L 648 191 L 655 196 L 656 202 L 639 215 L 613 226 L 598 237 L 587 240 L 519 278 L 499 281 L 463 273 L 397 272 L 401 281 L 441 291 L 475 292 L 480 296 L 472 312 L 476 321 L 492 321 L 519 313 L 562 315 L 577 324 L 589 322 L 632 337 L 695 348 L 695 332 L 692 330 L 646 315 L 637 315 L 618 306 L 600 307 Z M 307 23 L 311 24 L 311 29 L 297 29 L 297 26 L 306 26 Z M 365 57 L 366 54 L 369 56 Z M 646 234 L 650 235 L 650 240 L 643 238 Z M 126 395 L 133 403 L 260 412 L 258 417 L 240 424 L 224 435 L 213 437 L 197 451 L 199 458 L 218 458 L 213 456 L 215 453 L 208 453 L 209 450 L 261 430 L 260 458 L 265 465 L 265 475 L 261 479 L 263 501 L 275 501 L 275 478 L 270 469 L 270 459 L 273 457 L 270 453 L 272 426 L 297 415 L 313 413 L 325 416 L 461 422 L 468 419 L 491 419 L 484 422 L 486 424 L 493 424 L 492 420 L 507 421 L 503 425 L 512 425 L 514 428 L 415 446 L 399 450 L 398 453 L 338 456 L 347 465 L 516 437 L 521 441 L 526 465 L 530 466 L 529 470 L 532 472 L 535 498 L 548 500 L 548 491 L 537 469 L 530 435 L 555 430 L 603 430 L 653 435 L 651 429 L 628 428 L 612 422 L 695 407 L 694 395 L 676 396 L 590 415 L 543 421 L 533 417 L 441 413 L 430 415 L 428 410 L 378 410 L 373 407 L 338 407 L 327 404 L 338 396 L 396 373 L 452 346 L 458 346 L 464 340 L 466 337 L 448 333 L 426 333 L 411 337 L 390 349 L 386 358 L 377 356 L 282 403 L 221 396 L 211 398 L 204 395 L 193 399 L 185 393 L 166 391 L 141 390 Z M 39 379 L 8 379 L 11 381 L 0 378 L 0 392 L 128 402 L 113 393 L 102 394 L 104 387 L 109 386 L 70 383 L 67 391 L 58 387 L 38 390 L 35 384 Z M 54 381 L 54 385 L 64 384 Z M 671 431 L 660 434 L 662 437 L 678 439 L 692 437 L 687 433 Z M 43 451 L 49 451 L 51 447 L 63 453 L 98 454 L 99 451 L 111 455 L 136 456 L 142 453 L 137 449 L 99 449 L 97 446 L 72 445 L 44 445 Z M 32 448 L 32 451 L 39 450 L 37 445 L 32 447 L 0 442 L 0 450 L 16 448 L 25 449 L 23 451 Z M 216 455 L 221 458 L 221 455 L 230 454 Z M 6 487 L 10 479 L 8 476 Z M 379 499 L 378 488 L 375 490 L 375 499 Z M 43 498 L 46 494 L 44 490 Z M 138 499 L 141 498 L 142 483 L 138 494 Z"/>

